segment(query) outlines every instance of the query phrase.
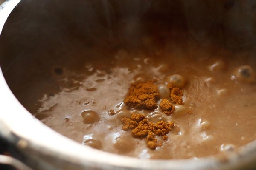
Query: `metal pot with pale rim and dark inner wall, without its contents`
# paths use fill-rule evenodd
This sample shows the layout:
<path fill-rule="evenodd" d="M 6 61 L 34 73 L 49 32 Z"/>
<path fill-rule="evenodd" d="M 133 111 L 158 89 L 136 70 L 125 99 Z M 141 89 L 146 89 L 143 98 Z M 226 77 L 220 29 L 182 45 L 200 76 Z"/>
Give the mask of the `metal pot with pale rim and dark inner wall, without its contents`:
<path fill-rule="evenodd" d="M 209 0 L 210 7 L 205 2 L 9 0 L 3 3 L 0 7 L 0 136 L 11 146 L 9 151 L 18 155 L 16 159 L 23 164 L 37 170 L 256 168 L 256 141 L 225 157 L 209 156 L 197 160 L 137 159 L 83 146 L 32 116 L 26 110 L 32 99 L 18 93 L 29 86 L 26 84 L 29 77 L 34 75 L 38 81 L 47 78 L 47 74 L 40 70 L 49 65 L 64 63 L 67 67 L 76 67 L 77 62 L 72 62 L 72 54 L 69 53 L 76 49 L 72 43 L 77 43 L 76 47 L 80 45 L 90 49 L 91 45 L 97 45 L 99 35 L 104 35 L 108 40 L 122 37 L 120 44 L 136 46 L 143 34 L 140 20 L 145 13 L 155 20 L 167 20 L 172 27 L 185 27 L 195 43 L 205 45 L 205 42 L 213 40 L 230 49 L 253 51 L 255 31 L 253 15 L 250 15 L 255 12 L 250 8 L 253 2 Z M 242 10 L 237 13 L 239 9 Z M 119 24 L 115 25 L 117 20 Z M 218 34 L 220 30 L 221 35 Z M 101 43 L 102 46 L 108 44 Z M 60 55 L 63 58 L 59 58 Z M 33 84 L 34 87 L 37 85 Z M 24 97 L 28 98 L 27 102 L 20 103 Z"/>

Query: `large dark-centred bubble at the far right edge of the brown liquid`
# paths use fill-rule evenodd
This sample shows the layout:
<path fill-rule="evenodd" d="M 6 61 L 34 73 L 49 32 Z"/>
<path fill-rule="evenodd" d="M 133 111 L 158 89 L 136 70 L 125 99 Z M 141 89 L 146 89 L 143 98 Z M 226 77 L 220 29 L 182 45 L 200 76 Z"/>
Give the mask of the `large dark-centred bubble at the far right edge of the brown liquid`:
<path fill-rule="evenodd" d="M 256 78 L 256 73 L 250 65 L 243 65 L 236 69 L 234 74 L 232 75 L 232 80 L 238 80 L 241 82 L 254 82 Z"/>

